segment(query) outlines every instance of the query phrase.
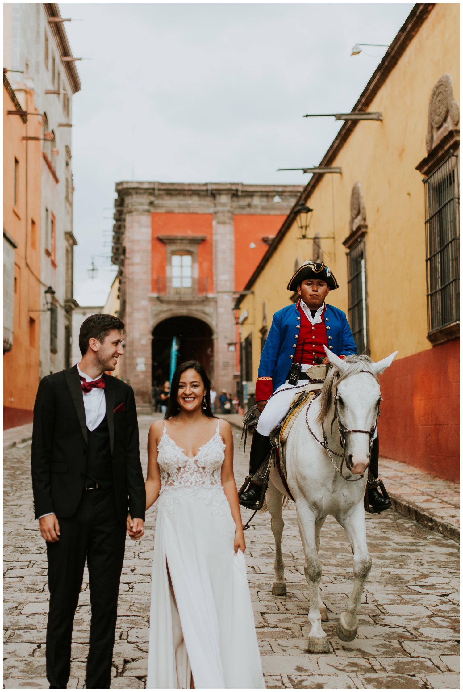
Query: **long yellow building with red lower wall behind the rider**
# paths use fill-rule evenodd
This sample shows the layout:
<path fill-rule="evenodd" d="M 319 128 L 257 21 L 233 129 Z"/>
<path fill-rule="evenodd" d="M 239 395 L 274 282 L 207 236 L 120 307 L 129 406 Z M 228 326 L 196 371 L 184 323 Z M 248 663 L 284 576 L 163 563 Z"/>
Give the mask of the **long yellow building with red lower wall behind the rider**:
<path fill-rule="evenodd" d="M 381 119 L 344 122 L 320 162 L 338 172 L 312 176 L 237 301 L 255 379 L 262 335 L 291 300 L 287 280 L 323 257 L 340 284 L 328 302 L 347 313 L 358 352 L 375 361 L 399 352 L 381 378 L 381 453 L 450 480 L 459 474 L 459 28 L 458 4 L 415 5 L 352 109 Z"/>

